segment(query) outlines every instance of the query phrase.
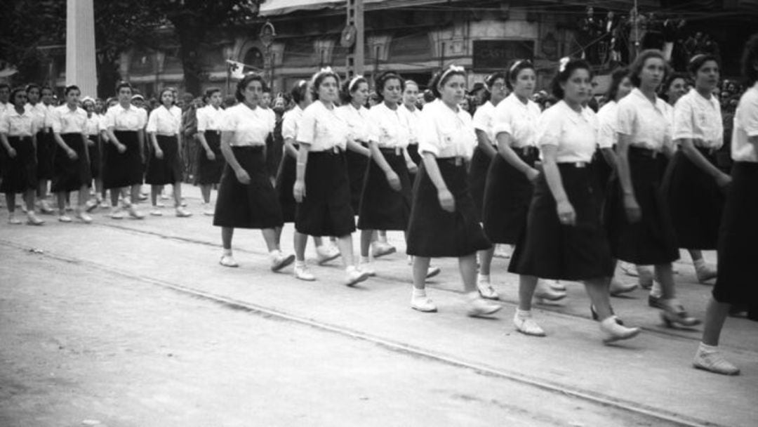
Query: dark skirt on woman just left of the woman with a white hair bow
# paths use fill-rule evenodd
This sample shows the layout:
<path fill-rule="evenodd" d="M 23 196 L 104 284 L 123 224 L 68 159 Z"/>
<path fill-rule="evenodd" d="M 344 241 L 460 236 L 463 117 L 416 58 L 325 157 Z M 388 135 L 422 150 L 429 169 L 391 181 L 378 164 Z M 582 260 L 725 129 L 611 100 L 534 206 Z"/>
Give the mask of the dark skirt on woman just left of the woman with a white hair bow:
<path fill-rule="evenodd" d="M 534 167 L 537 149 L 515 149 L 520 159 Z M 482 221 L 484 233 L 493 243 L 515 244 L 526 227 L 526 215 L 534 191 L 525 174 L 522 174 L 505 159 L 496 155 L 487 171 L 484 187 L 484 210 Z"/>

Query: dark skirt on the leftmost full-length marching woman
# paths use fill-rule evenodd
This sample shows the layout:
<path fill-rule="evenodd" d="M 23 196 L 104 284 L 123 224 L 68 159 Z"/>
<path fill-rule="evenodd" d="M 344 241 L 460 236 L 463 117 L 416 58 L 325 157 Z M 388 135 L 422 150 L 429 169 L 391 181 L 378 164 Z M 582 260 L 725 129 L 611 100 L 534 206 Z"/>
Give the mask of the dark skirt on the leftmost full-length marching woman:
<path fill-rule="evenodd" d="M 2 183 L 0 193 L 23 193 L 37 187 L 37 159 L 32 137 L 8 137 L 8 143 L 16 150 L 16 157 L 3 154 Z"/>

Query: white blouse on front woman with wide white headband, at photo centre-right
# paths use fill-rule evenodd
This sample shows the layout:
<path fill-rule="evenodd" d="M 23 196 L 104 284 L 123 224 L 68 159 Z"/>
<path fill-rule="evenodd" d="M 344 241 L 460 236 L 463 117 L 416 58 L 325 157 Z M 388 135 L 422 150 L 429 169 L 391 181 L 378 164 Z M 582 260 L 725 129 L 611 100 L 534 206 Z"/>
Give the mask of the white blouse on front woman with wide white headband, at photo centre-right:
<path fill-rule="evenodd" d="M 440 159 L 471 159 L 476 145 L 471 115 L 463 108 L 453 111 L 440 99 L 424 105 L 418 123 L 419 152 L 429 152 Z"/>

